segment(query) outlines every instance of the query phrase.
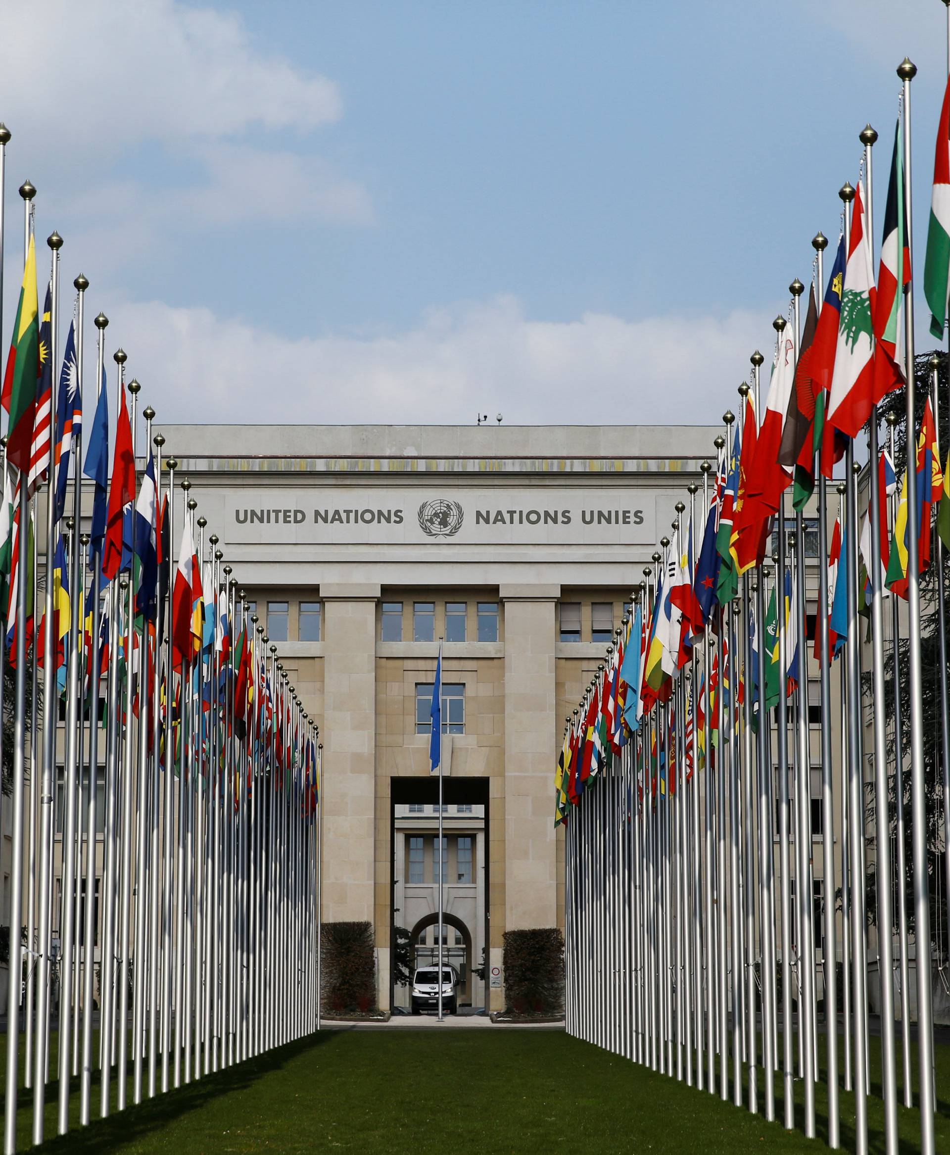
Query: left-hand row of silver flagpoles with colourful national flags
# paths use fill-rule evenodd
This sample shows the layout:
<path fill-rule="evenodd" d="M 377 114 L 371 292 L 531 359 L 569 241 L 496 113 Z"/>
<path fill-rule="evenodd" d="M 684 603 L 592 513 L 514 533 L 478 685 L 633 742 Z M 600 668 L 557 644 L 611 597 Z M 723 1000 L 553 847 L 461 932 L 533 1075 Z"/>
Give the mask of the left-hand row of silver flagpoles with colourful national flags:
<path fill-rule="evenodd" d="M 9 139 L 0 126 L 0 278 Z M 76 1086 L 84 1125 L 97 1089 L 107 1116 L 320 1024 L 317 726 L 218 537 L 205 538 L 190 483 L 177 480 L 174 457 L 163 460 L 151 407 L 136 469 L 140 386 L 126 386 L 122 350 L 110 477 L 103 313 L 82 462 L 89 282 L 74 282 L 57 387 L 62 239 L 47 243 L 40 314 L 36 189 L 27 181 L 20 193 L 24 277 L 3 382 L 0 506 L 0 671 L 15 668 L 14 701 L 0 699 L 14 721 L 12 797 L 2 798 L 12 833 L 5 1153 L 16 1147 L 23 1088 L 32 1141 L 43 1141 L 51 1076 L 62 1134 Z"/>

